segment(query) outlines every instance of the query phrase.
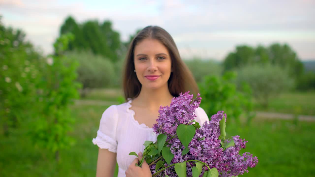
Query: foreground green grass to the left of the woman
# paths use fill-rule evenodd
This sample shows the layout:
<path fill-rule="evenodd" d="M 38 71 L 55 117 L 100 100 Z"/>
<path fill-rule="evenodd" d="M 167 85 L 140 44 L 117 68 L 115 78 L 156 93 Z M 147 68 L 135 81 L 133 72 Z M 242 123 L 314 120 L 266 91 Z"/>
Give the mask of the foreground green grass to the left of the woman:
<path fill-rule="evenodd" d="M 76 123 L 70 134 L 76 144 L 60 151 L 60 163 L 48 151 L 34 148 L 25 131 L 14 131 L 9 138 L 0 135 L 0 176 L 95 176 L 98 147 L 92 138 L 107 107 L 72 106 Z"/>

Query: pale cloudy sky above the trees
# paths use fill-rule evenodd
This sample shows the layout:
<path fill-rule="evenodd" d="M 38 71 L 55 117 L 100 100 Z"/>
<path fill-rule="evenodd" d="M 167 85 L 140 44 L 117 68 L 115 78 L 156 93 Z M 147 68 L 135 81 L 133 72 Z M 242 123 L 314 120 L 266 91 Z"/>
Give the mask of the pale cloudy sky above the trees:
<path fill-rule="evenodd" d="M 287 43 L 301 60 L 315 60 L 315 0 L 0 0 L 0 15 L 45 54 L 71 15 L 77 23 L 111 20 L 123 41 L 161 26 L 186 59 L 223 60 L 237 45 Z"/>

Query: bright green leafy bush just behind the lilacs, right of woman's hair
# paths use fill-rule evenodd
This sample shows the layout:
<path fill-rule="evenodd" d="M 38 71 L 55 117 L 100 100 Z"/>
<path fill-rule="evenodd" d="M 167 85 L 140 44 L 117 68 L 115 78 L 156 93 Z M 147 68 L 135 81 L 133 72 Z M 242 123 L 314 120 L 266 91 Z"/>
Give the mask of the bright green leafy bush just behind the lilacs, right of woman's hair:
<path fill-rule="evenodd" d="M 226 72 L 222 77 L 206 76 L 204 81 L 199 84 L 200 94 L 203 95 L 200 106 L 208 115 L 226 110 L 225 113 L 238 122 L 240 115 L 244 113 L 249 123 L 255 116 L 252 114 L 251 89 L 246 83 L 243 83 L 241 91 L 238 91 L 235 79 L 234 72 Z"/>

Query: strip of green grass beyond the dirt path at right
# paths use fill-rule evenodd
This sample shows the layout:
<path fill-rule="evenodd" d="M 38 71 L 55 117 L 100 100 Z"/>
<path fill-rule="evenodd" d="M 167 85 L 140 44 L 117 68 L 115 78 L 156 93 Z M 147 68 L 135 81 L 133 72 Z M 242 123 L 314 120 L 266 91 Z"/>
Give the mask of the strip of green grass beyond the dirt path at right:
<path fill-rule="evenodd" d="M 315 115 L 315 92 L 292 92 L 280 94 L 270 100 L 269 106 L 263 108 L 255 104 L 257 111 L 279 112 L 286 114 Z"/>

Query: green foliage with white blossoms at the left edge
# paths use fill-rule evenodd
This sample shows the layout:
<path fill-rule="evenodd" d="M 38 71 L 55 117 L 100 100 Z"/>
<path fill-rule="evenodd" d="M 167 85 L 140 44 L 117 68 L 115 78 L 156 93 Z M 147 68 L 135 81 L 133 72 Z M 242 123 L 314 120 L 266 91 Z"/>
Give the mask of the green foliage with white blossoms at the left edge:
<path fill-rule="evenodd" d="M 6 28 L 0 19 L 0 125 L 3 133 L 20 127 L 33 117 L 36 87 L 41 78 L 38 65 L 43 57 L 23 31 Z"/>

